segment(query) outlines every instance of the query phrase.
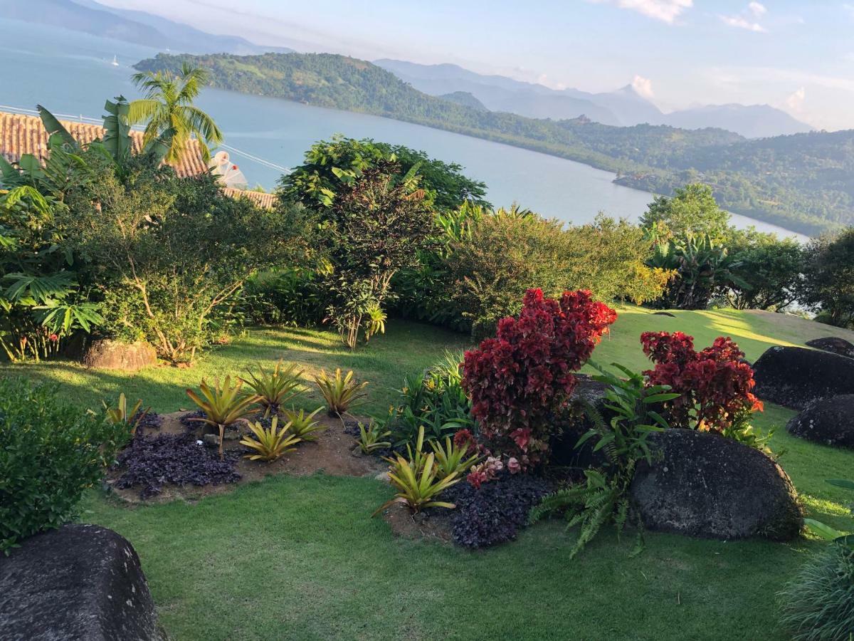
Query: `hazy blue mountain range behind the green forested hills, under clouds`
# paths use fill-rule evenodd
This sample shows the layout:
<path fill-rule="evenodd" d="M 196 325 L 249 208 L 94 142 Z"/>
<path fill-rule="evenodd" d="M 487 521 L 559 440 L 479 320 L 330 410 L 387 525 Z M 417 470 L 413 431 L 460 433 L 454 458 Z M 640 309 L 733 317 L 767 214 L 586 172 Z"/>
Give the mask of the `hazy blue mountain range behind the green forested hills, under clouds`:
<path fill-rule="evenodd" d="M 708 105 L 664 114 L 631 85 L 607 93 L 577 89 L 554 90 L 505 76 L 477 74 L 453 64 L 422 65 L 401 60 L 377 60 L 401 80 L 431 96 L 465 92 L 490 111 L 506 111 L 529 118 L 565 120 L 585 115 L 604 125 L 670 125 L 683 129 L 717 127 L 746 138 L 766 138 L 811 131 L 781 109 L 767 104 Z"/>

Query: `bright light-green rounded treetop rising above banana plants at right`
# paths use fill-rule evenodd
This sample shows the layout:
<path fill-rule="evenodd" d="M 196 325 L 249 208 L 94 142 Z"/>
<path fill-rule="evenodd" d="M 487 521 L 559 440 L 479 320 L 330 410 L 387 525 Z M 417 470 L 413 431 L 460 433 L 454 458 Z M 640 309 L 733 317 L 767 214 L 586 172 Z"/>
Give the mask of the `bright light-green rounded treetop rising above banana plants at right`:
<path fill-rule="evenodd" d="M 673 196 L 654 197 L 640 226 L 668 237 L 708 234 L 717 241 L 729 231 L 729 214 L 718 207 L 709 185 L 692 183 L 677 187 Z"/>

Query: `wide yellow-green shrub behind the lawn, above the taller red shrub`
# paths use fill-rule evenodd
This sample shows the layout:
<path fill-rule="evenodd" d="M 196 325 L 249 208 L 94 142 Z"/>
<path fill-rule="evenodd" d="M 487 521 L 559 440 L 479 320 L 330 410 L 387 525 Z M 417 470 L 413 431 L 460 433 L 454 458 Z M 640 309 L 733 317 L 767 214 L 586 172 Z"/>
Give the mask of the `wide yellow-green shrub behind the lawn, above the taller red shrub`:
<path fill-rule="evenodd" d="M 474 338 L 492 336 L 500 319 L 518 314 L 532 287 L 548 297 L 585 289 L 600 300 L 642 303 L 658 298 L 670 278 L 646 266 L 652 242 L 625 221 L 600 216 L 590 225 L 564 227 L 513 207 L 472 216 L 466 225 L 439 277 L 446 315 L 464 321 Z"/>

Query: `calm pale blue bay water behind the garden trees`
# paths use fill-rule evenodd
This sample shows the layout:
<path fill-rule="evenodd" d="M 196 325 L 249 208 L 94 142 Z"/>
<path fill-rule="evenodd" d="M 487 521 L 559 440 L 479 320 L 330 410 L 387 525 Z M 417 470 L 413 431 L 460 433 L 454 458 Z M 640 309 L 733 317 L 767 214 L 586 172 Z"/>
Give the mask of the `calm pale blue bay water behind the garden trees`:
<path fill-rule="evenodd" d="M 137 97 L 131 65 L 157 51 L 135 44 L 68 32 L 48 26 L 0 19 L 0 43 L 6 81 L 0 105 L 55 114 L 98 118 L 104 100 L 120 94 Z M 113 66 L 113 56 L 119 66 Z M 198 100 L 225 134 L 225 144 L 283 168 L 301 162 L 314 141 L 343 133 L 425 150 L 446 162 L 459 162 L 465 173 L 483 180 L 496 206 L 518 202 L 541 215 L 563 221 L 592 221 L 608 215 L 637 219 L 652 195 L 614 185 L 613 174 L 555 156 L 442 132 L 372 115 L 320 109 L 276 98 L 208 89 Z M 3 109 L 3 107 L 0 107 Z M 281 171 L 232 153 L 251 185 L 272 188 Z M 795 236 L 780 227 L 744 216 L 738 226 Z M 804 237 L 799 237 L 804 238 Z"/>

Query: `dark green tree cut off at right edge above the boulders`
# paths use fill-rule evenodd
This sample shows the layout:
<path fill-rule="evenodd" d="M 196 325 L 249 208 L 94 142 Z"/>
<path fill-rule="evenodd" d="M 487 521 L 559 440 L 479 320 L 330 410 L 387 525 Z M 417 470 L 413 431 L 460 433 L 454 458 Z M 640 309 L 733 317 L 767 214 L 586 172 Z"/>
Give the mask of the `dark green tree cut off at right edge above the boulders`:
<path fill-rule="evenodd" d="M 836 237 L 813 239 L 804 250 L 798 300 L 839 327 L 854 321 L 854 227 Z"/>

